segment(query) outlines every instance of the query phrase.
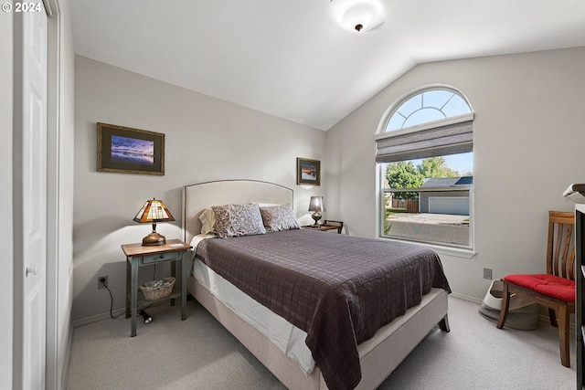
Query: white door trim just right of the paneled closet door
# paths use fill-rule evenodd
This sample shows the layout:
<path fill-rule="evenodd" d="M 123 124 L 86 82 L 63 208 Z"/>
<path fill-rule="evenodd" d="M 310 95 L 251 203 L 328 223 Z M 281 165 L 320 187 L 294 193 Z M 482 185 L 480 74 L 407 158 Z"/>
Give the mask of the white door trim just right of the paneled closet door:
<path fill-rule="evenodd" d="M 64 76 L 73 71 L 73 60 L 67 58 L 68 2 L 44 0 L 48 10 L 47 55 L 47 345 L 46 387 L 58 390 L 66 387 L 71 341 L 72 290 L 72 150 L 68 142 L 72 133 L 72 90 Z M 68 29 L 69 28 L 69 29 Z M 69 61 L 69 63 L 68 63 Z M 71 69 L 68 69 L 68 66 Z M 71 82 L 72 85 L 72 82 Z M 69 107 L 68 107 L 69 102 Z M 68 113 L 69 112 L 69 113 Z M 65 169 L 64 169 L 65 168 Z M 63 173 L 63 171 L 65 171 Z"/>

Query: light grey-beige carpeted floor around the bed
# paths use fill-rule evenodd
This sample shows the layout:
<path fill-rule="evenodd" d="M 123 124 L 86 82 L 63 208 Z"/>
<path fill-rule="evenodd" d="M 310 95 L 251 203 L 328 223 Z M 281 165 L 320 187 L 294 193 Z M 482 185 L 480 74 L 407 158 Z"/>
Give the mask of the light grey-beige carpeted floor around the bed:
<path fill-rule="evenodd" d="M 498 330 L 478 307 L 451 296 L 452 332 L 430 332 L 379 389 L 575 388 L 574 343 L 572 367 L 563 367 L 555 328 Z M 123 315 L 76 328 L 68 389 L 284 388 L 197 301 L 187 302 L 186 321 L 178 307 L 149 313 L 154 321 L 139 321 L 133 338 Z"/>

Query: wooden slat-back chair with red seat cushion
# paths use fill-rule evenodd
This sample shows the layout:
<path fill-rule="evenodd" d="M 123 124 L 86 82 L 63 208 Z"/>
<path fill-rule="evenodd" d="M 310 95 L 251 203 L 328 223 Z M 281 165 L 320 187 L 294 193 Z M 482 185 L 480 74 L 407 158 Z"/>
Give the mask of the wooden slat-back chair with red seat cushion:
<path fill-rule="evenodd" d="M 560 363 L 565 367 L 570 367 L 569 316 L 575 312 L 574 225 L 574 213 L 548 212 L 547 273 L 505 276 L 502 279 L 502 309 L 497 322 L 497 327 L 502 329 L 508 315 L 511 294 L 546 306 L 550 324 L 558 327 Z"/>

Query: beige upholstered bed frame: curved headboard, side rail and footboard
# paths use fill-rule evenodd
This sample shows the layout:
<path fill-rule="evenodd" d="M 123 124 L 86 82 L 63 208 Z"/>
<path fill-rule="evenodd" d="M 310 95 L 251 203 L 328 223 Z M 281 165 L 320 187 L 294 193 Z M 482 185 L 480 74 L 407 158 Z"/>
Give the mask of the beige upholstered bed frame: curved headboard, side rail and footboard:
<path fill-rule="evenodd" d="M 183 229 L 185 241 L 191 242 L 201 231 L 199 216 L 210 206 L 225 204 L 269 203 L 294 205 L 293 190 L 279 184 L 250 180 L 217 181 L 186 185 L 183 188 Z M 290 389 L 326 389 L 318 367 L 305 375 L 292 359 L 258 331 L 218 300 L 197 279 L 189 275 L 188 291 L 240 343 L 264 364 L 283 385 Z M 358 345 L 362 380 L 358 389 L 375 389 L 404 360 L 437 324 L 448 332 L 448 293 L 431 289 L 420 305 L 391 321 L 370 340 Z"/>

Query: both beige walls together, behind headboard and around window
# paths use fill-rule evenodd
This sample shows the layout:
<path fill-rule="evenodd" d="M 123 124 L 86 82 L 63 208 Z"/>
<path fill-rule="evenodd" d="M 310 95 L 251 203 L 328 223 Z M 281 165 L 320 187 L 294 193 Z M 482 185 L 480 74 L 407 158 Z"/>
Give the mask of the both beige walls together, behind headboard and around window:
<path fill-rule="evenodd" d="M 123 307 L 120 244 L 148 227 L 133 214 L 149 197 L 177 217 L 159 224 L 180 237 L 180 188 L 209 180 L 251 178 L 295 189 L 303 214 L 310 195 L 326 195 L 327 216 L 351 234 L 377 236 L 374 134 L 388 106 L 425 85 L 452 86 L 467 97 L 474 124 L 473 258 L 441 255 L 460 295 L 481 299 L 494 278 L 543 271 L 547 210 L 571 210 L 561 197 L 585 182 L 585 48 L 422 64 L 382 90 L 328 132 L 283 121 L 122 69 L 76 57 L 73 319 L 101 318 L 109 296 Z M 164 132 L 165 176 L 97 173 L 95 122 Z M 233 141 L 228 141 L 233 140 Z M 322 160 L 324 185 L 295 184 L 296 157 Z"/>

